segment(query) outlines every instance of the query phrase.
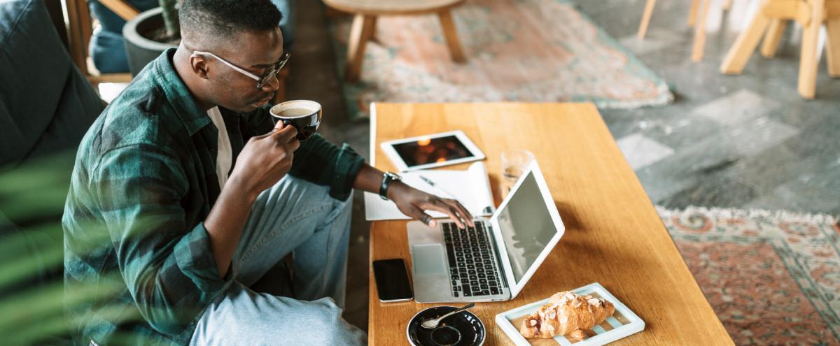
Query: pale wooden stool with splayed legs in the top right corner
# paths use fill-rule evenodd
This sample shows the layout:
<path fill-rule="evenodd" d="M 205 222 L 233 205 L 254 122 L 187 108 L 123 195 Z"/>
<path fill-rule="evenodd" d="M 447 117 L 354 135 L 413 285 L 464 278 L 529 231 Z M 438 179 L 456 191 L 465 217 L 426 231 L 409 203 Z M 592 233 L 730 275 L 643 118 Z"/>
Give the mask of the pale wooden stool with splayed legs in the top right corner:
<path fill-rule="evenodd" d="M 740 74 L 766 32 L 761 54 L 773 57 L 787 21 L 801 24 L 802 47 L 799 63 L 799 94 L 807 99 L 816 92 L 817 52 L 820 29 L 826 24 L 828 75 L 840 77 L 840 0 L 764 0 L 748 28 L 738 36 L 721 65 L 724 74 Z"/>

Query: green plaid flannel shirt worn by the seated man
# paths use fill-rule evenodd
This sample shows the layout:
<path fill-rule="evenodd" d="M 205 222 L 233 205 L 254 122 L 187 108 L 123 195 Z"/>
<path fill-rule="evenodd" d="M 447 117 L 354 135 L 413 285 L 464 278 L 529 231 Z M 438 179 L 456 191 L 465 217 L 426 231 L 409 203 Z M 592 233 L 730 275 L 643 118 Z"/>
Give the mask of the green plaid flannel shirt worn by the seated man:
<path fill-rule="evenodd" d="M 219 195 L 218 129 L 197 106 L 167 50 L 87 131 L 63 226 L 65 305 L 76 342 L 184 344 L 226 288 L 203 220 Z M 222 109 L 234 162 L 274 126 L 267 108 Z M 363 159 L 316 135 L 289 174 L 346 200 Z M 259 317 L 255 317 L 259 318 Z"/>

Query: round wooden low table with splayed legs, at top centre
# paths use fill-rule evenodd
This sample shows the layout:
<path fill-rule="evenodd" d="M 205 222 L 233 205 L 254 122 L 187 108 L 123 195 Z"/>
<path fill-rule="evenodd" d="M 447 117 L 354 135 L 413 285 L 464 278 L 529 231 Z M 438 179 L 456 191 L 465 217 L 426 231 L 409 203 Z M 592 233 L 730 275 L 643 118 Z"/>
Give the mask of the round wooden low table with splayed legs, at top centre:
<path fill-rule="evenodd" d="M 455 31 L 450 9 L 464 0 L 323 0 L 330 8 L 354 13 L 347 45 L 347 68 L 344 79 L 358 81 L 365 58 L 365 45 L 376 31 L 376 18 L 381 15 L 413 15 L 438 13 L 452 60 L 464 62 L 464 51 Z"/>

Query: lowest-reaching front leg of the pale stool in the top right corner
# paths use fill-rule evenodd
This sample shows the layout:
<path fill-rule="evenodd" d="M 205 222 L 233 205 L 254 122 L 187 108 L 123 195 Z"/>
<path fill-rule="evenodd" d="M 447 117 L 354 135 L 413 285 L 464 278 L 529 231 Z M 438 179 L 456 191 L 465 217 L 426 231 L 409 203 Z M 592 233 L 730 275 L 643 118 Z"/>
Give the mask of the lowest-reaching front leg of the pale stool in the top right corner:
<path fill-rule="evenodd" d="M 806 99 L 814 98 L 816 93 L 816 70 L 819 63 L 819 52 L 816 51 L 819 39 L 820 28 L 822 27 L 822 15 L 825 11 L 825 0 L 810 0 L 811 23 L 809 23 L 802 34 L 802 53 L 799 60 L 799 94 Z"/>

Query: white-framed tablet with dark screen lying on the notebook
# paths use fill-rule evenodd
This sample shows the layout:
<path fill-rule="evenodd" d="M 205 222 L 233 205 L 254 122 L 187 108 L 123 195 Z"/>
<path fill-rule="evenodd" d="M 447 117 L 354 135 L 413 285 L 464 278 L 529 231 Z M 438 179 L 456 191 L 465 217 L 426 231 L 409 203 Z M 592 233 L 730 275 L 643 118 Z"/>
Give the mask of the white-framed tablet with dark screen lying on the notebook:
<path fill-rule="evenodd" d="M 382 142 L 385 155 L 402 172 L 484 160 L 485 155 L 463 131 L 428 134 Z"/>

